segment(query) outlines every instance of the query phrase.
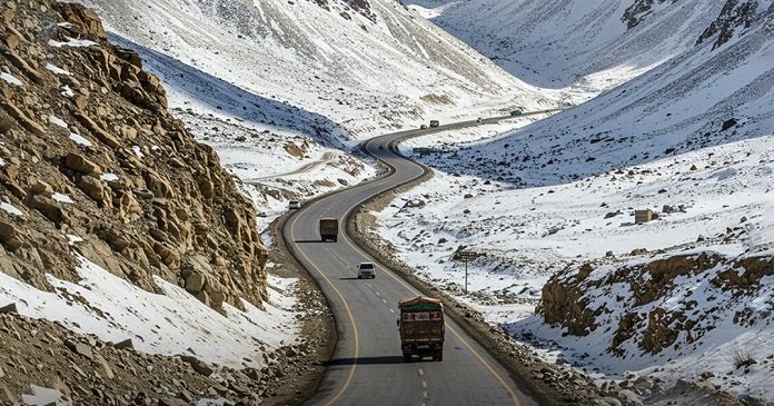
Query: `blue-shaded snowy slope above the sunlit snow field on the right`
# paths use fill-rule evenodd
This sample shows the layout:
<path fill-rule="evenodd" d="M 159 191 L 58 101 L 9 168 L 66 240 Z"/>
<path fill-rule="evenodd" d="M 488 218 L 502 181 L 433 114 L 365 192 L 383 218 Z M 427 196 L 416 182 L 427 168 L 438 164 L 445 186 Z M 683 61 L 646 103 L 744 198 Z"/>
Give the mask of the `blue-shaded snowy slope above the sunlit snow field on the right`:
<path fill-rule="evenodd" d="M 459 152 L 456 171 L 485 176 L 500 166 L 502 180 L 553 185 L 770 135 L 773 58 L 763 21 L 718 49 L 699 44 L 591 102 L 478 142 Z"/>

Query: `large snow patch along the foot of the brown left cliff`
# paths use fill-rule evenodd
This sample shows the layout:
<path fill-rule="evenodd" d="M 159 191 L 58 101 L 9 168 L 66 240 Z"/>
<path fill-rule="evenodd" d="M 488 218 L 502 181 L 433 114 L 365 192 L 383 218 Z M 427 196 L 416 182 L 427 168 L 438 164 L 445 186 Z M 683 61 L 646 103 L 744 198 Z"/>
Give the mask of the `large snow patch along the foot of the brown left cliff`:
<path fill-rule="evenodd" d="M 261 343 L 270 350 L 291 341 L 298 334 L 291 310 L 296 299 L 275 288 L 269 289 L 266 310 L 244 301 L 246 311 L 226 304 L 221 315 L 159 277 L 155 277 L 155 283 L 162 295 L 142 290 L 80 256 L 78 259 L 77 283 L 47 276 L 54 287 L 52 293 L 0 273 L 0 303 L 16 303 L 23 316 L 60 321 L 106 341 L 131 338 L 140 351 L 192 354 L 208 363 L 231 367 L 260 368 L 264 366 Z M 271 278 L 270 284 L 287 289 L 295 280 Z M 73 296 L 79 300 L 72 300 Z M 96 314 L 93 308 L 101 311 Z"/>

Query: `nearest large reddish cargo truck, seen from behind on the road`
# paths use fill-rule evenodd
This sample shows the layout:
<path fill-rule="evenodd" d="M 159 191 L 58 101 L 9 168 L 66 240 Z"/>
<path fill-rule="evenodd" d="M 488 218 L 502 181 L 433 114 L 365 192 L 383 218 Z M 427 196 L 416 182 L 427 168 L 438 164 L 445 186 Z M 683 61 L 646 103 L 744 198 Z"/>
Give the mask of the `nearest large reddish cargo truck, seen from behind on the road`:
<path fill-rule="evenodd" d="M 426 296 L 403 299 L 398 303 L 400 349 L 404 362 L 411 356 L 444 360 L 444 305 Z"/>

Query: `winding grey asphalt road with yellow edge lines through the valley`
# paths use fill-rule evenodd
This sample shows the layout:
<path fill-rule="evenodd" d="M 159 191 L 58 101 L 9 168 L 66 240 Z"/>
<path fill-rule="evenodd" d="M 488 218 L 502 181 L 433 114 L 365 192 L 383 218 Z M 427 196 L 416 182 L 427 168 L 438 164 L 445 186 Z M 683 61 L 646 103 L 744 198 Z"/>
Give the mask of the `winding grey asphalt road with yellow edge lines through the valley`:
<path fill-rule="evenodd" d="M 534 113 L 545 112 L 550 111 Z M 486 349 L 448 317 L 444 360 L 404 363 L 396 327 L 397 304 L 419 293 L 368 257 L 344 232 L 338 242 L 321 242 L 317 230 L 321 217 L 344 219 L 370 197 L 423 175 L 423 167 L 395 154 L 390 142 L 510 118 L 514 117 L 457 122 L 370 139 L 364 147 L 391 168 L 386 177 L 310 202 L 288 218 L 282 228 L 288 248 L 320 285 L 338 331 L 334 358 L 307 405 L 537 405 Z M 344 228 L 343 225 L 343 231 Z M 356 266 L 360 261 L 376 263 L 375 279 L 357 279 Z"/>

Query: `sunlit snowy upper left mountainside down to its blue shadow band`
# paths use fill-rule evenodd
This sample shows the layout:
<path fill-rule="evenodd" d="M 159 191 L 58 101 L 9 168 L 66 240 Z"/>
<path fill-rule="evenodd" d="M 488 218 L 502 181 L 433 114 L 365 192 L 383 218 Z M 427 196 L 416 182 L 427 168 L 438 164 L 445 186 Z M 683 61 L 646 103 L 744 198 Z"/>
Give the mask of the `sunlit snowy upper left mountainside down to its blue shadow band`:
<path fill-rule="evenodd" d="M 170 106 L 329 145 L 484 105 L 549 105 L 391 0 L 82 2 L 160 73 Z"/>

